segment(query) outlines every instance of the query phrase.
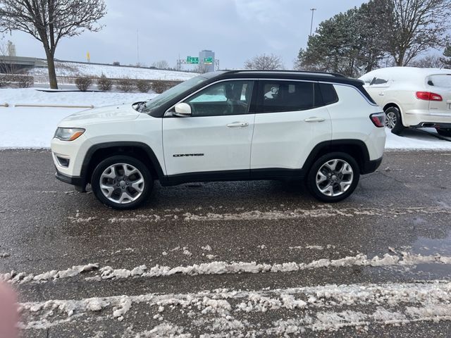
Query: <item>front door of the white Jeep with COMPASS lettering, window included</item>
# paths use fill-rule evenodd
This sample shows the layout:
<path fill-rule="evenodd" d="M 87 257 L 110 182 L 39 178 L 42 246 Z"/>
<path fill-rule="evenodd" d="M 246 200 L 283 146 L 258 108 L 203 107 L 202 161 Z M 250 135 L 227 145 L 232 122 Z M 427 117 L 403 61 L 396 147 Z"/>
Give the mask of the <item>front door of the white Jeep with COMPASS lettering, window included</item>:
<path fill-rule="evenodd" d="M 216 82 L 185 99 L 190 117 L 163 118 L 167 175 L 249 170 L 253 80 Z"/>

